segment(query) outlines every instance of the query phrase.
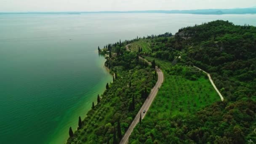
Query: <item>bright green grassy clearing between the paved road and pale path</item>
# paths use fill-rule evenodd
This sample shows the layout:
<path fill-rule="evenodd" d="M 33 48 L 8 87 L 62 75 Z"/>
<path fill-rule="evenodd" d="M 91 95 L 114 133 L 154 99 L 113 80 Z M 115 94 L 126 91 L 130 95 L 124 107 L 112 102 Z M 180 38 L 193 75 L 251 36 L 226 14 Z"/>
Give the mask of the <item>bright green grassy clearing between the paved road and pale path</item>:
<path fill-rule="evenodd" d="M 153 58 L 145 57 L 148 61 Z M 197 80 L 189 80 L 182 75 L 170 75 L 172 64 L 168 61 L 155 59 L 164 73 L 164 83 L 149 110 L 150 115 L 177 115 L 196 112 L 198 109 L 219 101 L 208 77 L 202 74 Z"/>

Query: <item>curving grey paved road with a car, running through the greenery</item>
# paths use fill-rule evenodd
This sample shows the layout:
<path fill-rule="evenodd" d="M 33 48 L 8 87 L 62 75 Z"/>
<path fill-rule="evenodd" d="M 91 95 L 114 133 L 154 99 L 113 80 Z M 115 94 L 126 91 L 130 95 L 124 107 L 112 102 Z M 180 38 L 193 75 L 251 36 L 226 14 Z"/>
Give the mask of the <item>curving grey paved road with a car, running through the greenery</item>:
<path fill-rule="evenodd" d="M 142 58 L 140 57 L 140 59 L 142 59 Z M 148 62 L 148 63 L 150 63 L 150 62 Z M 134 118 L 134 120 L 131 123 L 128 130 L 125 132 L 125 134 L 119 144 L 127 144 L 128 143 L 128 139 L 129 139 L 129 136 L 131 135 L 131 132 L 133 131 L 133 128 L 135 128 L 137 123 L 139 123 L 140 114 L 141 114 L 141 119 L 143 119 L 145 117 L 150 105 L 152 104 L 153 100 L 155 99 L 155 96 L 157 95 L 158 88 L 160 88 L 160 86 L 163 83 L 163 72 L 158 67 L 156 67 L 155 69 L 156 69 L 157 75 L 158 75 L 157 83 L 155 84 L 154 88 L 152 88 L 151 92 L 149 93 L 149 96 L 145 100 L 144 104 L 142 105 L 141 109 L 137 113 L 136 117 Z M 146 111 L 145 113 L 143 113 L 144 110 Z"/>

